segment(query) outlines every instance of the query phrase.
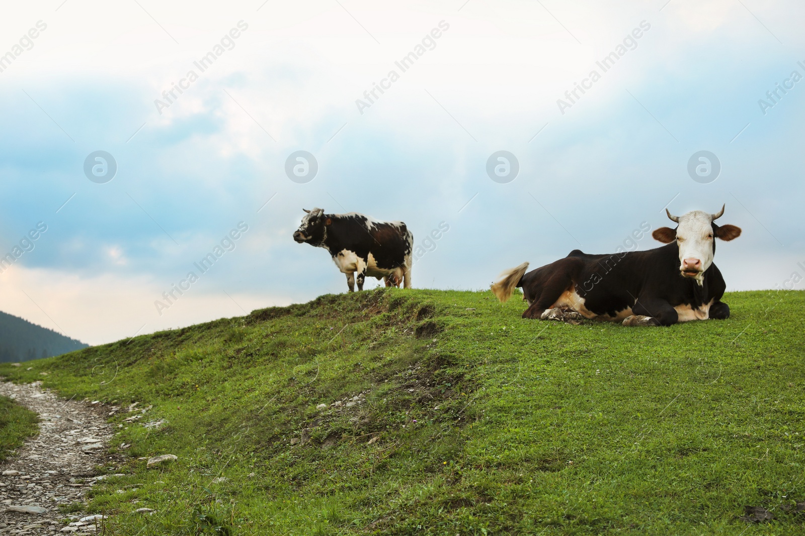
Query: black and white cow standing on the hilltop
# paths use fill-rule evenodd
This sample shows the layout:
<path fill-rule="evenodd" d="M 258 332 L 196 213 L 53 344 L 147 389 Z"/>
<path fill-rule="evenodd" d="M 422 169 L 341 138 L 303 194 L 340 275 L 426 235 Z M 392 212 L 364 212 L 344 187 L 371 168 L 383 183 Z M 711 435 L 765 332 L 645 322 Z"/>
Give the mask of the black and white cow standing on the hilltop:
<path fill-rule="evenodd" d="M 332 260 L 347 275 L 349 292 L 363 290 L 366 276 L 381 277 L 386 287 L 401 283 L 411 288 L 411 250 L 414 235 L 403 222 L 382 222 L 369 216 L 324 214 L 324 210 L 302 209 L 308 214 L 294 233 L 296 242 L 307 242 L 330 252 Z"/>

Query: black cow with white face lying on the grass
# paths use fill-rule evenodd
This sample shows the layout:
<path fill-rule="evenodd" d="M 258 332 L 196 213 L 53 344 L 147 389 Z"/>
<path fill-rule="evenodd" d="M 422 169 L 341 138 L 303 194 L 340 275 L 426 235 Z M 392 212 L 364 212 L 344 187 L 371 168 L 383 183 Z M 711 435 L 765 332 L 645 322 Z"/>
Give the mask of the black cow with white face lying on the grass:
<path fill-rule="evenodd" d="M 734 225 L 716 225 L 724 214 L 691 211 L 666 214 L 675 229 L 651 235 L 667 245 L 645 252 L 588 255 L 576 249 L 564 259 L 526 273 L 528 263 L 501 274 L 492 285 L 500 301 L 522 288 L 528 309 L 523 318 L 622 321 L 623 325 L 672 325 L 729 317 L 721 301 L 726 284 L 716 265 L 716 238 L 741 235 Z"/>

